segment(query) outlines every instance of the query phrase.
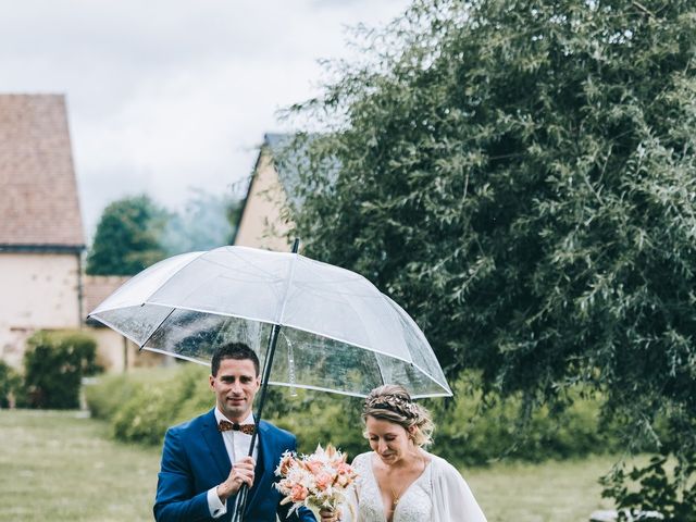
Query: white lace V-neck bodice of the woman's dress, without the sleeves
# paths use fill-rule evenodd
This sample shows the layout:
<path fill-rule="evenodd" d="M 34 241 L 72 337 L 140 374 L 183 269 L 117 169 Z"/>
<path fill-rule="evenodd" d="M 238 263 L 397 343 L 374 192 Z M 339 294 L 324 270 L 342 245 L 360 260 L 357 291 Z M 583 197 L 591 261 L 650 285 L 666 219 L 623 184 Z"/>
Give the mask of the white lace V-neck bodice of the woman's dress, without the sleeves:
<path fill-rule="evenodd" d="M 360 475 L 356 484 L 359 495 L 358 522 L 386 522 L 380 486 L 372 471 L 373 455 L 363 453 L 353 461 L 356 471 Z M 431 520 L 433 508 L 431 468 L 428 463 L 421 476 L 401 494 L 394 511 L 393 522 Z"/>

